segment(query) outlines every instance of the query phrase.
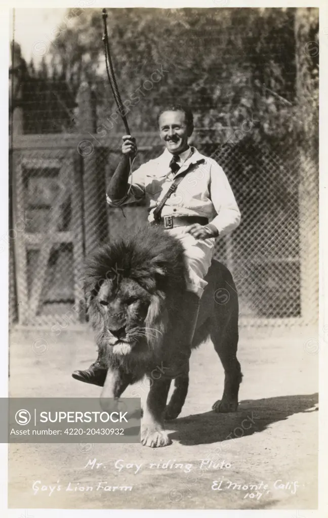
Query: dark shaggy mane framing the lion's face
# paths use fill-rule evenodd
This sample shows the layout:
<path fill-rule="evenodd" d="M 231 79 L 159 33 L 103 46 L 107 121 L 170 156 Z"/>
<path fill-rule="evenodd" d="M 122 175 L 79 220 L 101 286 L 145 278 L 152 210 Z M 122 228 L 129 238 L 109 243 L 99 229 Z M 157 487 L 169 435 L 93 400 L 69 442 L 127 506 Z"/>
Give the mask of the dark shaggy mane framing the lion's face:
<path fill-rule="evenodd" d="M 87 261 L 84 274 L 88 311 L 94 329 L 99 332 L 103 324 L 95 302 L 102 283 L 113 276 L 121 276 L 136 281 L 151 295 L 145 326 L 158 329 L 163 338 L 181 311 L 187 290 L 185 274 L 182 244 L 161 227 L 139 228 L 133 234 L 100 247 Z M 151 364 L 151 358 L 161 357 L 162 341 L 153 331 L 146 332 L 146 337 Z M 122 362 L 127 360 L 122 358 Z M 142 358 L 142 362 L 147 362 L 147 358 Z"/>

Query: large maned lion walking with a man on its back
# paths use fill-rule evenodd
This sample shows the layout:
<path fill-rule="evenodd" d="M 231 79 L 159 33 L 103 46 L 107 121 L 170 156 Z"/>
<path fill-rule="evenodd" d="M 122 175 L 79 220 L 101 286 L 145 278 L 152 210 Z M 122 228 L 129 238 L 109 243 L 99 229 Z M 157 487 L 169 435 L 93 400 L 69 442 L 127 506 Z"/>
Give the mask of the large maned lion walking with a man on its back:
<path fill-rule="evenodd" d="M 190 347 L 179 334 L 185 274 L 182 244 L 157 226 L 140 228 L 134 235 L 102 246 L 85 269 L 88 312 L 108 369 L 101 401 L 119 398 L 129 384 L 146 376 L 150 388 L 141 443 L 149 447 L 172 442 L 164 420 L 176 419 L 181 412 L 188 392 L 191 350 L 208 337 L 225 372 L 222 399 L 212 409 L 235 412 L 238 407 L 242 374 L 236 357 L 238 298 L 232 275 L 223 264 L 212 261 Z M 166 406 L 173 379 L 174 392 Z"/>

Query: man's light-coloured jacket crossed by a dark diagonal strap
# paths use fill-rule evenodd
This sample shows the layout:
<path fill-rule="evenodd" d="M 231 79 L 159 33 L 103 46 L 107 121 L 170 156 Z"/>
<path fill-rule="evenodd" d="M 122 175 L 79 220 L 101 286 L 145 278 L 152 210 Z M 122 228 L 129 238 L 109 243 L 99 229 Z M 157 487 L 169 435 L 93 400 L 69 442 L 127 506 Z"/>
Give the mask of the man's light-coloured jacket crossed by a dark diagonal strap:
<path fill-rule="evenodd" d="M 225 235 L 240 223 L 240 211 L 230 183 L 215 160 L 199 153 L 194 147 L 191 149 L 192 155 L 176 175 L 169 168 L 172 154 L 167 149 L 158 158 L 149 160 L 133 171 L 129 177 L 128 194 L 120 200 L 120 205 L 135 203 L 146 197 L 148 220 L 152 221 L 152 211 L 168 191 L 173 179 L 190 168 L 176 192 L 166 201 L 161 215 L 205 216 L 217 227 L 220 236 Z M 117 205 L 117 201 L 108 195 L 107 203 Z"/>

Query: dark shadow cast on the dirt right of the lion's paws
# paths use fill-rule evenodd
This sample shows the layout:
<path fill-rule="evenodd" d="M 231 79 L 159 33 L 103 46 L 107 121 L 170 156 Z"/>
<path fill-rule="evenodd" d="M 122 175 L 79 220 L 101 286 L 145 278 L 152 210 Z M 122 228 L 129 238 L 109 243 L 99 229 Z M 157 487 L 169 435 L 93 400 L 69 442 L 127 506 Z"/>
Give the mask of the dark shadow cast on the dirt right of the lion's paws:
<path fill-rule="evenodd" d="M 245 400 L 239 403 L 237 412 L 188 415 L 166 422 L 166 427 L 175 429 L 170 438 L 180 444 L 211 444 L 259 433 L 296 413 L 314 412 L 317 403 L 317 393 Z"/>

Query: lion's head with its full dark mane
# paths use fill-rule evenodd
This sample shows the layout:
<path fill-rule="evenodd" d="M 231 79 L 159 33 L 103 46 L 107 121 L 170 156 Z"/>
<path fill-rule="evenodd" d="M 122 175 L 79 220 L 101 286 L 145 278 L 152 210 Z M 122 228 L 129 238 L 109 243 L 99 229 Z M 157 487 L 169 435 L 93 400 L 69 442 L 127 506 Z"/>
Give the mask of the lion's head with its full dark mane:
<path fill-rule="evenodd" d="M 96 251 L 85 269 L 89 315 L 109 361 L 161 347 L 186 291 L 183 247 L 147 226 Z"/>

